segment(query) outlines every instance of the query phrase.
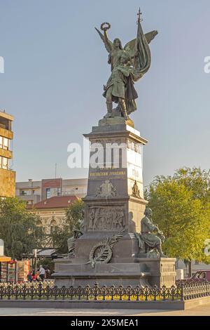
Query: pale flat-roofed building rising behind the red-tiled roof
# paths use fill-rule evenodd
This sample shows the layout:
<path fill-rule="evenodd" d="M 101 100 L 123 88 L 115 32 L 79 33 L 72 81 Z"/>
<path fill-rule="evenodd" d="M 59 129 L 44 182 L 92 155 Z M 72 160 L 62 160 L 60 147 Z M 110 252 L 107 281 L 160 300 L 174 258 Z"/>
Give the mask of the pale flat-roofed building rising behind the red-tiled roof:
<path fill-rule="evenodd" d="M 87 179 L 54 178 L 16 183 L 16 196 L 27 204 L 36 204 L 51 197 L 77 196 L 85 197 Z"/>

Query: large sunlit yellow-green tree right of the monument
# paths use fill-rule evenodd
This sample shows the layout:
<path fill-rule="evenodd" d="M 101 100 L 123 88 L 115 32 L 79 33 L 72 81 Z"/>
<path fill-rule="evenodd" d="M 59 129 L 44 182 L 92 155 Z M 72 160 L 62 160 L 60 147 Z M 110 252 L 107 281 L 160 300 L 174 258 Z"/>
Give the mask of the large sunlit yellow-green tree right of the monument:
<path fill-rule="evenodd" d="M 158 176 L 146 191 L 153 222 L 165 233 L 168 256 L 210 263 L 204 242 L 210 238 L 209 172 L 179 169 L 174 176 Z"/>

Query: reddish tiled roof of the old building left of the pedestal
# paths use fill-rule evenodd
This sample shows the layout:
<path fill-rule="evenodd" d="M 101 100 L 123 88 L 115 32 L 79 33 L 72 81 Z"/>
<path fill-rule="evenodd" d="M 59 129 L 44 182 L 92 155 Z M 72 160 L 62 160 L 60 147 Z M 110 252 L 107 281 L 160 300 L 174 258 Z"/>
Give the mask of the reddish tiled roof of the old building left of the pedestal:
<path fill-rule="evenodd" d="M 78 201 L 76 196 L 58 196 L 45 199 L 44 201 L 34 204 L 34 209 L 55 209 L 66 208 L 73 202 Z"/>

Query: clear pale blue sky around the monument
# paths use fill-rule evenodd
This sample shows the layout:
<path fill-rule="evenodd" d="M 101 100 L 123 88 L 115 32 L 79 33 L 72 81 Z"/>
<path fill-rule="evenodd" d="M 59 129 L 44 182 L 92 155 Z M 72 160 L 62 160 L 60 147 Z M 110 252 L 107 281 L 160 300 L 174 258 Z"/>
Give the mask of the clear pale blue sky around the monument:
<path fill-rule="evenodd" d="M 106 113 L 102 87 L 110 74 L 94 30 L 110 22 L 123 44 L 158 29 L 151 70 L 136 84 L 132 115 L 144 148 L 144 183 L 180 166 L 209 169 L 209 0 L 0 0 L 0 108 L 15 116 L 13 169 L 17 179 L 87 176 L 66 165 L 67 145 Z"/>

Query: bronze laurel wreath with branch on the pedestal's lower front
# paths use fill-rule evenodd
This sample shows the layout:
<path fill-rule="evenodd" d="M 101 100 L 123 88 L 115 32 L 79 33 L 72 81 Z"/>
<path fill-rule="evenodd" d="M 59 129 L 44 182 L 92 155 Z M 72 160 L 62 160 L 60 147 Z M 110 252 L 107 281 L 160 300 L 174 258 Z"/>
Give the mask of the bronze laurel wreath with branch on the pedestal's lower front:
<path fill-rule="evenodd" d="M 121 230 L 116 235 L 113 235 L 112 237 L 106 237 L 104 241 L 95 244 L 92 247 L 92 250 L 90 251 L 90 260 L 88 261 L 92 268 L 94 268 L 97 263 L 109 263 L 112 258 L 113 244 L 118 242 L 118 240 L 123 237 L 123 235 L 124 230 Z"/>

